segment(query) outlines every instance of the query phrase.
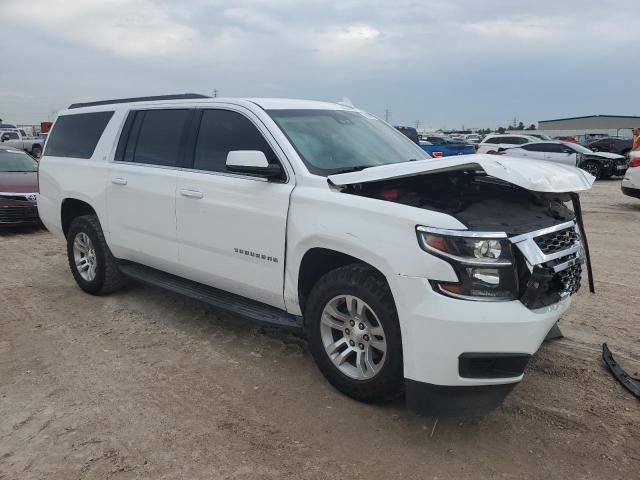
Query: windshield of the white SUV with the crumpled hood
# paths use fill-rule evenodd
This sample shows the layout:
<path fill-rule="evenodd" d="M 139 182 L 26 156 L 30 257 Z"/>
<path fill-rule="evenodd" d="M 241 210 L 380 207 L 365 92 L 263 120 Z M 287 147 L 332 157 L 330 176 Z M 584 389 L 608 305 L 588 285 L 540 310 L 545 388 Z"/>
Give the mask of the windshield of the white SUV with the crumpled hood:
<path fill-rule="evenodd" d="M 343 110 L 269 110 L 311 173 L 331 175 L 430 158 L 372 115 Z"/>

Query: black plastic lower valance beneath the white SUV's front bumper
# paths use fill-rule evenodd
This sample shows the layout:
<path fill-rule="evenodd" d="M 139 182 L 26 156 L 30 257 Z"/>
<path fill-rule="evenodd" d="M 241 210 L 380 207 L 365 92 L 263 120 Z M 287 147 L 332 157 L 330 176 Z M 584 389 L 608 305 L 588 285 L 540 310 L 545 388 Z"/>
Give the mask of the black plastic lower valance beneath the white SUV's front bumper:
<path fill-rule="evenodd" d="M 405 378 L 407 408 L 418 415 L 477 417 L 498 408 L 517 383 L 442 386 Z"/>

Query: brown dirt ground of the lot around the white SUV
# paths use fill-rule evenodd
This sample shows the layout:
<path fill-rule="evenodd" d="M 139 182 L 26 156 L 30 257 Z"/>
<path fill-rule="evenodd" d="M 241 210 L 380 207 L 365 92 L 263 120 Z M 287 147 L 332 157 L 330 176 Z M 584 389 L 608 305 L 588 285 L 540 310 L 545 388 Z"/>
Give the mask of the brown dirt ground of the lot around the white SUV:
<path fill-rule="evenodd" d="M 141 285 L 82 293 L 63 242 L 0 233 L 0 479 L 638 478 L 640 201 L 584 198 L 586 288 L 504 406 L 465 421 L 334 391 L 305 343 Z M 586 283 L 586 279 L 585 283 Z"/>

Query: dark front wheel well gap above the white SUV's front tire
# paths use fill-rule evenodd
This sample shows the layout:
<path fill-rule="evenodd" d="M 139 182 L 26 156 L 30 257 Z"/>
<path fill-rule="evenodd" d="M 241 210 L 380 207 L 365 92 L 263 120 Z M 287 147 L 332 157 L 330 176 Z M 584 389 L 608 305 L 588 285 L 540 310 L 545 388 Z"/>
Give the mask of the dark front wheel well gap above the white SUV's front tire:
<path fill-rule="evenodd" d="M 323 275 L 329 273 L 331 270 L 352 263 L 367 265 L 384 278 L 384 274 L 377 268 L 346 253 L 326 248 L 312 248 L 305 253 L 304 257 L 302 257 L 302 262 L 300 262 L 300 272 L 298 275 L 298 301 L 300 303 L 300 309 L 304 312 L 311 289 Z"/>

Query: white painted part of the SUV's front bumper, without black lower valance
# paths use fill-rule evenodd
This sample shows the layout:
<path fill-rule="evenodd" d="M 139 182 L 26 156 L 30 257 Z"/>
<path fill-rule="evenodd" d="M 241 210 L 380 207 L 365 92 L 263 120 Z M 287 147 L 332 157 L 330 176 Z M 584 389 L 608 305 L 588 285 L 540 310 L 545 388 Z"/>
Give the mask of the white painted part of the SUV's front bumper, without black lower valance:
<path fill-rule="evenodd" d="M 440 386 L 482 386 L 519 382 L 522 374 L 467 378 L 460 356 L 473 353 L 534 354 L 547 332 L 569 308 L 571 298 L 530 310 L 519 300 L 474 302 L 446 297 L 428 280 L 388 277 L 402 331 L 406 379 Z"/>

